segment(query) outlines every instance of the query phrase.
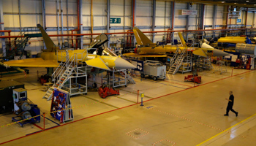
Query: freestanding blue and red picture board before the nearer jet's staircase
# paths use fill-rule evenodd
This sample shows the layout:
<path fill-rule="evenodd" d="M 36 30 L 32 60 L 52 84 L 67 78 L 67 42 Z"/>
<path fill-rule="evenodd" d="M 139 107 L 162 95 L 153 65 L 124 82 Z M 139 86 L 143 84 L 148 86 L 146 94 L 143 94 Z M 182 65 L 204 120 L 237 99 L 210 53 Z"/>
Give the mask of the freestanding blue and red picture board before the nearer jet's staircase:
<path fill-rule="evenodd" d="M 50 112 L 50 115 L 61 123 L 74 118 L 69 93 L 67 91 L 54 88 Z"/>

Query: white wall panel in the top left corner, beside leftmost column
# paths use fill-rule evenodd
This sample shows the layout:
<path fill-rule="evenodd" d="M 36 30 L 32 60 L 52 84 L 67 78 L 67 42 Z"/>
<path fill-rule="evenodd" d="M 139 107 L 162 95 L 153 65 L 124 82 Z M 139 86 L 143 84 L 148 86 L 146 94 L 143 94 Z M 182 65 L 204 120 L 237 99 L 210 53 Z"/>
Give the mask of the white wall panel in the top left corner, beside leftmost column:
<path fill-rule="evenodd" d="M 2 0 L 3 12 L 19 12 L 18 0 Z"/>

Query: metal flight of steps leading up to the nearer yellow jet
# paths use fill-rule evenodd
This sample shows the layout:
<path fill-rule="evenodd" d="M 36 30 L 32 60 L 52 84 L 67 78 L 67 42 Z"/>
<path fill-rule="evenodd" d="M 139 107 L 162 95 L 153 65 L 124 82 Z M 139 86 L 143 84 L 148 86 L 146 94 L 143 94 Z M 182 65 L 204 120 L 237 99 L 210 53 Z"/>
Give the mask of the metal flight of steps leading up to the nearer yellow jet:
<path fill-rule="evenodd" d="M 74 71 L 74 68 L 72 66 L 74 60 L 75 60 L 75 57 L 72 56 L 69 59 L 69 61 L 66 61 L 65 64 L 63 66 L 61 66 L 61 69 L 64 69 L 65 66 L 67 66 L 67 67 L 66 67 L 66 69 L 64 70 L 63 73 L 59 72 L 59 74 L 57 75 L 57 76 L 59 76 L 58 77 L 59 80 L 57 80 L 57 82 L 55 82 L 53 84 L 53 86 L 48 89 L 48 91 L 45 93 L 45 96 L 42 97 L 43 99 L 47 99 L 48 101 L 50 99 L 52 99 L 54 88 L 60 88 L 61 89 L 63 87 L 63 85 L 65 84 L 65 82 L 67 82 L 67 80 L 69 80 L 70 75 Z M 56 72 L 54 72 L 53 75 L 55 73 Z"/>

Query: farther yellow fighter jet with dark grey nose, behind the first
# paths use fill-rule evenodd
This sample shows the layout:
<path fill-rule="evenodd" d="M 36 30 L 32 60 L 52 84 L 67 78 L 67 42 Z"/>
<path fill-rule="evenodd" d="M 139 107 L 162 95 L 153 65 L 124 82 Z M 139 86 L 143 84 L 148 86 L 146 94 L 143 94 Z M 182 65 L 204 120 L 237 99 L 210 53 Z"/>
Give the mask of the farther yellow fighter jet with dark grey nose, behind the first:
<path fill-rule="evenodd" d="M 143 32 L 140 31 L 137 27 L 133 28 L 133 33 L 135 34 L 136 41 L 140 47 L 136 47 L 134 53 L 125 53 L 124 56 L 127 57 L 167 57 L 168 53 L 175 53 L 178 46 L 165 45 L 159 46 L 156 43 L 151 42 L 148 37 L 146 37 Z M 228 53 L 223 52 L 222 50 L 214 49 L 210 45 L 204 43 L 202 47 L 187 47 L 184 38 L 181 33 L 178 32 L 178 36 L 181 39 L 181 45 L 179 48 L 181 50 L 190 50 L 194 55 L 200 55 L 203 57 L 207 56 L 225 56 L 229 55 Z"/>

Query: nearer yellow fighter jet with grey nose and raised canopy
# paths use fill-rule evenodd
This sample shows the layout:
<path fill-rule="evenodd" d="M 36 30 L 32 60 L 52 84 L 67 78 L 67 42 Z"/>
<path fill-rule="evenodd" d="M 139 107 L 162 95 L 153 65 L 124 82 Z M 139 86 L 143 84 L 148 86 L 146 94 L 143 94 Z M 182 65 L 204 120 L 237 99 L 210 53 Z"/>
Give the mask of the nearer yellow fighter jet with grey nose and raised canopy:
<path fill-rule="evenodd" d="M 87 50 L 60 50 L 57 47 L 52 39 L 48 36 L 45 30 L 40 24 L 37 24 L 37 27 L 40 29 L 42 37 L 45 42 L 46 50 L 42 50 L 40 58 L 28 58 L 18 61 L 5 61 L 1 65 L 7 67 L 46 67 L 54 68 L 59 66 L 59 62 L 66 61 L 66 58 L 70 59 L 72 56 L 75 56 L 80 64 L 86 63 L 87 66 L 92 66 L 98 69 L 134 69 L 135 66 L 130 64 L 128 61 L 124 60 L 120 56 L 111 56 L 111 55 L 97 55 L 88 53 Z M 108 37 L 105 34 L 100 34 L 97 39 L 94 39 L 91 42 L 91 47 L 97 47 L 104 44 L 108 41 Z M 105 52 L 105 50 L 102 50 Z M 68 60 L 69 60 L 68 59 Z"/>

